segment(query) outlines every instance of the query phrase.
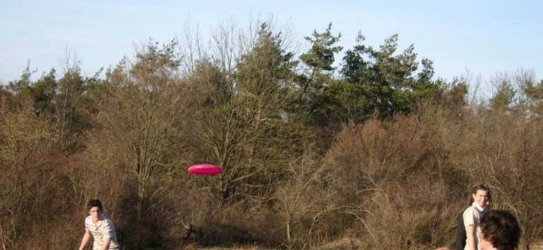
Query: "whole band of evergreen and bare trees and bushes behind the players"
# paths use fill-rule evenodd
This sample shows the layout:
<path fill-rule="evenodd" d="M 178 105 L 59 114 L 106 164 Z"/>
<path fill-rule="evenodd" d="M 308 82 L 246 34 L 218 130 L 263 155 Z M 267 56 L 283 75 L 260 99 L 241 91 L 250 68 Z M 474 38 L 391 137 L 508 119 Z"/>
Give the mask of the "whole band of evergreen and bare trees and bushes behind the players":
<path fill-rule="evenodd" d="M 498 74 L 473 101 L 469 78 L 436 78 L 398 35 L 379 48 L 359 35 L 335 67 L 331 26 L 300 52 L 271 24 L 150 40 L 104 75 L 68 60 L 33 81 L 27 67 L 0 86 L 2 247 L 77 247 L 98 198 L 127 249 L 433 249 L 453 244 L 479 182 L 524 244 L 543 237 L 533 72 Z M 224 172 L 188 174 L 198 163 Z"/>

